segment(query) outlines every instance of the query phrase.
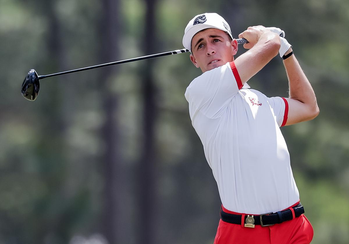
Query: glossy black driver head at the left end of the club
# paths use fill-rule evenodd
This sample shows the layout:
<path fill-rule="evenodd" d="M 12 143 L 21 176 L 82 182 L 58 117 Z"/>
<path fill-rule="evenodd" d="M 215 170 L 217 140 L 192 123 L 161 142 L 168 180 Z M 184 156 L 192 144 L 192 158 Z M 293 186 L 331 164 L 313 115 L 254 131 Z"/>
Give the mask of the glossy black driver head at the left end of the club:
<path fill-rule="evenodd" d="M 22 84 L 22 96 L 29 100 L 34 101 L 39 94 L 40 83 L 38 74 L 34 69 L 29 70 L 27 77 L 24 78 Z"/>

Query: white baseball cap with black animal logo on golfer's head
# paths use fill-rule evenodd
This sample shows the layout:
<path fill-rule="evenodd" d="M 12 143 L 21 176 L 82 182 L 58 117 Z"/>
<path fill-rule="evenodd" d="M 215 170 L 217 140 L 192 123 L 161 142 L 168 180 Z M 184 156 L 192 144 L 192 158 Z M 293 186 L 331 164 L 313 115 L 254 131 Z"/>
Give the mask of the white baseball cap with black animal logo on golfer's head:
<path fill-rule="evenodd" d="M 233 39 L 230 26 L 222 16 L 216 13 L 205 13 L 196 15 L 191 21 L 189 21 L 184 31 L 183 46 L 191 50 L 193 36 L 199 31 L 207 28 L 215 28 L 225 31 L 229 34 L 231 39 Z"/>

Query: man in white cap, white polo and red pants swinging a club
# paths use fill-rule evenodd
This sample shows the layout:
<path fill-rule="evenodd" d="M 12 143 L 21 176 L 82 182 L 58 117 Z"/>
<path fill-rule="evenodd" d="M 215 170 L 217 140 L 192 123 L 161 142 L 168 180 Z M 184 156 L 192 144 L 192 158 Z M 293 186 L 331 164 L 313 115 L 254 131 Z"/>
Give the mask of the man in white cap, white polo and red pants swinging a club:
<path fill-rule="evenodd" d="M 203 73 L 185 97 L 222 201 L 214 244 L 303 244 L 313 238 L 280 127 L 314 119 L 319 108 L 281 33 L 248 27 L 239 38 L 248 40 L 244 48 L 249 50 L 234 59 L 238 44 L 220 15 L 197 15 L 185 28 L 183 45 Z M 289 98 L 268 98 L 246 83 L 278 53 Z"/>

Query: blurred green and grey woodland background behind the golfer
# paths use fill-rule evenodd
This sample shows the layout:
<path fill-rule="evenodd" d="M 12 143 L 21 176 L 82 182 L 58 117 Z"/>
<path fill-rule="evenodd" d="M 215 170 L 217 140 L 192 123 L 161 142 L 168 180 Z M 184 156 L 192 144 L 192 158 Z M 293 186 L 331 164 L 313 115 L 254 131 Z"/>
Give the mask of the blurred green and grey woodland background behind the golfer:
<path fill-rule="evenodd" d="M 0 0 L 0 243 L 213 243 L 221 201 L 184 97 L 201 74 L 188 53 L 47 78 L 34 102 L 20 93 L 29 69 L 183 48 L 205 12 L 235 37 L 286 32 L 320 107 L 281 129 L 313 243 L 349 242 L 346 0 Z M 280 57 L 249 85 L 287 97 Z"/>

